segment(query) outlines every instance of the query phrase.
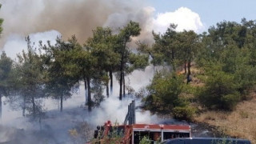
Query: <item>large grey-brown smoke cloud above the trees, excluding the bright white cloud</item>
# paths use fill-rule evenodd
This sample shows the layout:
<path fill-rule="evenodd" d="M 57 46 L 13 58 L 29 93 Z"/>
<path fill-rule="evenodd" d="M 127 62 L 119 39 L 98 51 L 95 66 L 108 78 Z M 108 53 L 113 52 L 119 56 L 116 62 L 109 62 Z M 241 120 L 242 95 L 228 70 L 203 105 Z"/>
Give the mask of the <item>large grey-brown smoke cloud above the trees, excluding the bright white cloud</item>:
<path fill-rule="evenodd" d="M 26 36 L 47 30 L 58 30 L 63 38 L 75 34 L 79 42 L 85 42 L 96 26 L 111 23 L 110 20 L 123 24 L 144 6 L 144 1 L 135 0 L 1 0 L 0 3 L 0 18 L 5 19 L 2 42 L 6 42 L 10 34 Z M 114 14 L 130 17 L 120 19 Z"/>

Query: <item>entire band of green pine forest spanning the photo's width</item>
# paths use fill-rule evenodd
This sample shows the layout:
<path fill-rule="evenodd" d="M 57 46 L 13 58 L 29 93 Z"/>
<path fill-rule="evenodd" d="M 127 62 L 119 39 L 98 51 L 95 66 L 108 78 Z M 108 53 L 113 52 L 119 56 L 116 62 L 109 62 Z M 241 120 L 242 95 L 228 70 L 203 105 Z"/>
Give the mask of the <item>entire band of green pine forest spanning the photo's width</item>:
<path fill-rule="evenodd" d="M 27 50 L 16 60 L 4 51 L 1 54 L 0 100 L 6 97 L 12 106 L 23 110 L 23 116 L 37 118 L 43 112 L 42 98 L 58 99 L 62 111 L 62 102 L 84 82 L 85 105 L 91 111 L 109 98 L 114 77 L 122 100 L 128 87 L 126 76 L 149 65 L 163 68 L 143 93 L 135 95 L 152 113 L 167 112 L 191 120 L 198 111 L 194 103 L 208 110 L 233 110 L 238 102 L 250 98 L 248 93 L 256 82 L 254 21 L 218 22 L 202 34 L 175 28 L 170 24 L 164 34 L 153 32 L 154 44 L 136 42 L 136 49 L 129 44 L 141 28 L 132 21 L 118 33 L 98 27 L 85 44 L 73 35 L 67 41 L 57 38 L 54 45 L 39 42 L 34 46 L 28 36 Z M 193 74 L 191 68 L 199 72 Z M 191 84 L 195 79 L 201 84 Z"/>

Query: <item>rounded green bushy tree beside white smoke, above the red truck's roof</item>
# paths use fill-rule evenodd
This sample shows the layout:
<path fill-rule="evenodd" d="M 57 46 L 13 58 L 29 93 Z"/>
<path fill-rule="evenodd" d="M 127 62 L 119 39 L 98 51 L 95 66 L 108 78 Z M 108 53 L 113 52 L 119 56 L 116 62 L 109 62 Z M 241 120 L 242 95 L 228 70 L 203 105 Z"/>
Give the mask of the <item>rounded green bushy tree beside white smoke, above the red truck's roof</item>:
<path fill-rule="evenodd" d="M 183 78 L 167 71 L 157 72 L 147 87 L 149 94 L 143 102 L 146 109 L 154 112 L 171 112 L 175 106 L 181 106 L 179 97 L 183 90 Z"/>

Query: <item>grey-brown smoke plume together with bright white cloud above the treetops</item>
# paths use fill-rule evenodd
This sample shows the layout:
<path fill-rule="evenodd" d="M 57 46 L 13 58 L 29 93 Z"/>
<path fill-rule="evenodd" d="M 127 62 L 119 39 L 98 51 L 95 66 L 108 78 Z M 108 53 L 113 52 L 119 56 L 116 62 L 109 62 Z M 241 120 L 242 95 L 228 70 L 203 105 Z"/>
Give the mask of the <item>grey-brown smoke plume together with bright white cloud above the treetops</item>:
<path fill-rule="evenodd" d="M 118 30 L 130 20 L 139 22 L 141 36 L 135 40 L 153 42 L 152 30 L 164 32 L 170 23 L 178 24 L 178 30 L 202 32 L 204 26 L 198 14 L 182 7 L 174 12 L 154 16 L 154 7 L 146 6 L 146 1 L 118 0 L 0 0 L 0 18 L 4 18 L 0 48 L 14 49 L 17 45 L 6 42 L 50 31 L 56 36 L 70 38 L 75 34 L 78 42 L 86 42 L 97 26 L 110 26 Z M 17 38 L 20 37 L 20 38 Z M 42 37 L 47 39 L 49 34 Z M 47 40 L 53 41 L 52 37 Z M 22 47 L 23 48 L 23 47 Z M 17 48 L 16 48 L 17 49 Z M 8 53 L 7 53 L 8 54 Z M 14 54 L 13 54 L 14 55 Z"/>

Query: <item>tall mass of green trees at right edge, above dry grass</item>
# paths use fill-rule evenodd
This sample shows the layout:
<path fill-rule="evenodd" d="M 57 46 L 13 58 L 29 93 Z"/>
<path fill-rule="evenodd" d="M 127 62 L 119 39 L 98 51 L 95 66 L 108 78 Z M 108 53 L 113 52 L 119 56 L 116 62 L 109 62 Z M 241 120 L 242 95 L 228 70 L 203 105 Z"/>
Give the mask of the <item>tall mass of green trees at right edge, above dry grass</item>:
<path fill-rule="evenodd" d="M 206 85 L 198 93 L 202 105 L 232 110 L 256 82 L 255 79 L 255 22 L 219 22 L 202 34 L 198 66 L 206 72 Z"/>

